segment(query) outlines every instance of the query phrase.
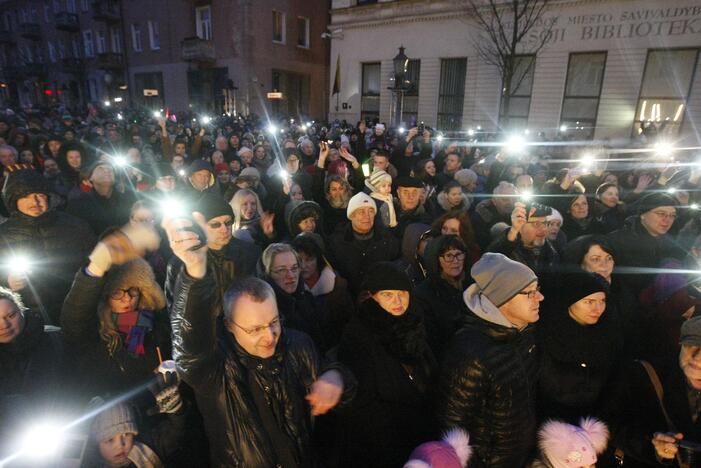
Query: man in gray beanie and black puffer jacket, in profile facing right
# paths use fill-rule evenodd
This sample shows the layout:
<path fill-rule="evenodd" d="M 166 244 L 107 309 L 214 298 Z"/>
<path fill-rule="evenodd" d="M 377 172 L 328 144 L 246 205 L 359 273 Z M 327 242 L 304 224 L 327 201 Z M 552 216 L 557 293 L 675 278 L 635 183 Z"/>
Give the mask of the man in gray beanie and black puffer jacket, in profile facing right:
<path fill-rule="evenodd" d="M 445 354 L 438 422 L 469 432 L 471 464 L 525 466 L 536 442 L 532 324 L 543 295 L 535 273 L 502 254 L 484 254 L 470 273 L 463 299 L 471 313 Z"/>

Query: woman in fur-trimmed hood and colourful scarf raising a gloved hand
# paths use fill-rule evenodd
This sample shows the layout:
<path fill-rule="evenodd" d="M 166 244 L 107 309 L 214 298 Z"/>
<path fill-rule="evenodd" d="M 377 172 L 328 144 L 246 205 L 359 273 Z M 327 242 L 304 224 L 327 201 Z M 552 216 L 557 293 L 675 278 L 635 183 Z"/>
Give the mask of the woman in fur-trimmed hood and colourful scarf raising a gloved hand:
<path fill-rule="evenodd" d="M 100 242 L 75 275 L 61 310 L 67 352 L 85 396 L 133 390 L 170 359 L 170 321 L 163 291 L 141 258 L 112 266 L 121 231 Z M 117 247 L 118 248 L 118 247 Z M 114 250 L 112 250 L 114 252 Z"/>

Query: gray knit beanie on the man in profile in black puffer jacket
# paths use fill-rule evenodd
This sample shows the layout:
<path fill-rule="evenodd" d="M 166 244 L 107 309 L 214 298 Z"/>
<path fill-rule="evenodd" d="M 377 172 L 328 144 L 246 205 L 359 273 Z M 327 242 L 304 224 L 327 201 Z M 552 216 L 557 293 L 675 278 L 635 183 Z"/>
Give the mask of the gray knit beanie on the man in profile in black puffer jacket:
<path fill-rule="evenodd" d="M 486 253 L 470 270 L 480 292 L 499 307 L 511 300 L 526 286 L 538 281 L 533 270 L 505 255 Z"/>

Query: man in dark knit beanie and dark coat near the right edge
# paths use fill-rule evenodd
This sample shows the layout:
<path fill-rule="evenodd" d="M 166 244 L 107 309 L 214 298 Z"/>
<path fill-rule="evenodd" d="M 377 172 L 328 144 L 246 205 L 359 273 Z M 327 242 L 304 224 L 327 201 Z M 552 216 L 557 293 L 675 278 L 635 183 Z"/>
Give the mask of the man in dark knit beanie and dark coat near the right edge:
<path fill-rule="evenodd" d="M 629 217 L 623 228 L 609 234 L 622 284 L 636 297 L 656 276 L 641 268 L 660 268 L 664 259 L 683 260 L 686 256 L 668 234 L 678 208 L 674 196 L 664 192 L 649 193 L 637 202 L 638 215 Z"/>

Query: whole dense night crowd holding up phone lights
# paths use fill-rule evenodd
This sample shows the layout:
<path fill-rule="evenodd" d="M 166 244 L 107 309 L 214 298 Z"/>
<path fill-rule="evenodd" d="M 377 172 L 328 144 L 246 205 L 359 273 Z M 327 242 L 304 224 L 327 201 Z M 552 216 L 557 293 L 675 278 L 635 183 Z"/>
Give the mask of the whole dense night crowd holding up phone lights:
<path fill-rule="evenodd" d="M 696 154 L 502 137 L 0 113 L 0 465 L 701 466 Z"/>

